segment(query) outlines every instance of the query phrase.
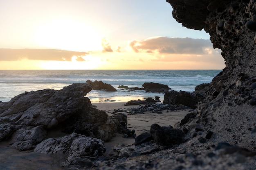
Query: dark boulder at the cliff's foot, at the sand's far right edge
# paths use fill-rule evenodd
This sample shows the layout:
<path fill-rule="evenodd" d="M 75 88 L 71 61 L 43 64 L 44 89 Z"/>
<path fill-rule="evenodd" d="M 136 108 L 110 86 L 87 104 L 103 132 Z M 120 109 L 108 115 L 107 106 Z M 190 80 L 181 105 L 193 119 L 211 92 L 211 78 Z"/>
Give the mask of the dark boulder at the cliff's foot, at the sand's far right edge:
<path fill-rule="evenodd" d="M 175 104 L 175 105 L 185 105 L 193 109 L 196 108 L 198 102 L 202 101 L 201 95 L 192 94 L 189 92 L 180 91 L 177 92 L 172 90 L 164 94 L 164 104 Z"/>

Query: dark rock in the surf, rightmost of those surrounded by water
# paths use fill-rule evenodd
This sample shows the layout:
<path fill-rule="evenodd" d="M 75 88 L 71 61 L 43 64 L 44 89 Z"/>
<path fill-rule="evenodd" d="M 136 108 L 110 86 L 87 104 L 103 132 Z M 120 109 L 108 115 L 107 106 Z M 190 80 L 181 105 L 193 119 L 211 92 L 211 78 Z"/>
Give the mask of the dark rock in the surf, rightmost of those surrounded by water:
<path fill-rule="evenodd" d="M 142 87 L 144 87 L 144 90 L 146 92 L 152 92 L 152 93 L 166 93 L 171 89 L 168 87 L 168 85 L 162 85 L 162 84 L 153 83 L 153 82 L 144 83 Z"/>

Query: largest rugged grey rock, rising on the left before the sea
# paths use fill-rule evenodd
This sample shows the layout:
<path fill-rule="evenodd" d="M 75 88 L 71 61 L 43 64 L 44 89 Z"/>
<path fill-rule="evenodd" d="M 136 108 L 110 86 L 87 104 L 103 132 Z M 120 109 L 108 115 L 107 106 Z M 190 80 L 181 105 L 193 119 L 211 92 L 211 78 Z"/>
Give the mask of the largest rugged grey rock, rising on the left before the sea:
<path fill-rule="evenodd" d="M 31 150 L 53 129 L 110 140 L 119 121 L 92 108 L 85 97 L 91 89 L 89 83 L 74 83 L 58 91 L 25 92 L 9 102 L 1 102 L 0 141 L 9 140 L 18 150 Z"/>

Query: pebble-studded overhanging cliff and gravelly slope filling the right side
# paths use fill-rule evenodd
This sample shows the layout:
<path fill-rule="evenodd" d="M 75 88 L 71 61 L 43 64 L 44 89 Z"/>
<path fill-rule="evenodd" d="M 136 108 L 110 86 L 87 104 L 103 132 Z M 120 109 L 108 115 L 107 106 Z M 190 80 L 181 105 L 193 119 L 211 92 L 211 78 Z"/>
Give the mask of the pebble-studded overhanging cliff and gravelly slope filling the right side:
<path fill-rule="evenodd" d="M 130 159 L 111 168 L 256 169 L 255 0 L 166 1 L 177 22 L 210 34 L 213 47 L 222 50 L 226 67 L 213 78 L 198 109 L 180 124 L 186 142 L 146 156 L 128 154 Z M 128 149 L 120 149 L 119 155 Z"/>

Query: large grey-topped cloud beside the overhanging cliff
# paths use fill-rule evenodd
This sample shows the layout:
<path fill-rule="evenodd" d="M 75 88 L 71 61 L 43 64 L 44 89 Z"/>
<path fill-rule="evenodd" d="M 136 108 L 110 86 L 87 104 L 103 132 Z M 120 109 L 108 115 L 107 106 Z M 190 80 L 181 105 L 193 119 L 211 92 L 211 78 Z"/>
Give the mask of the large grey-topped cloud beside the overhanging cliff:
<path fill-rule="evenodd" d="M 154 37 L 142 41 L 131 41 L 129 46 L 135 52 L 160 54 L 216 55 L 220 50 L 213 49 L 210 40 L 193 38 Z"/>

